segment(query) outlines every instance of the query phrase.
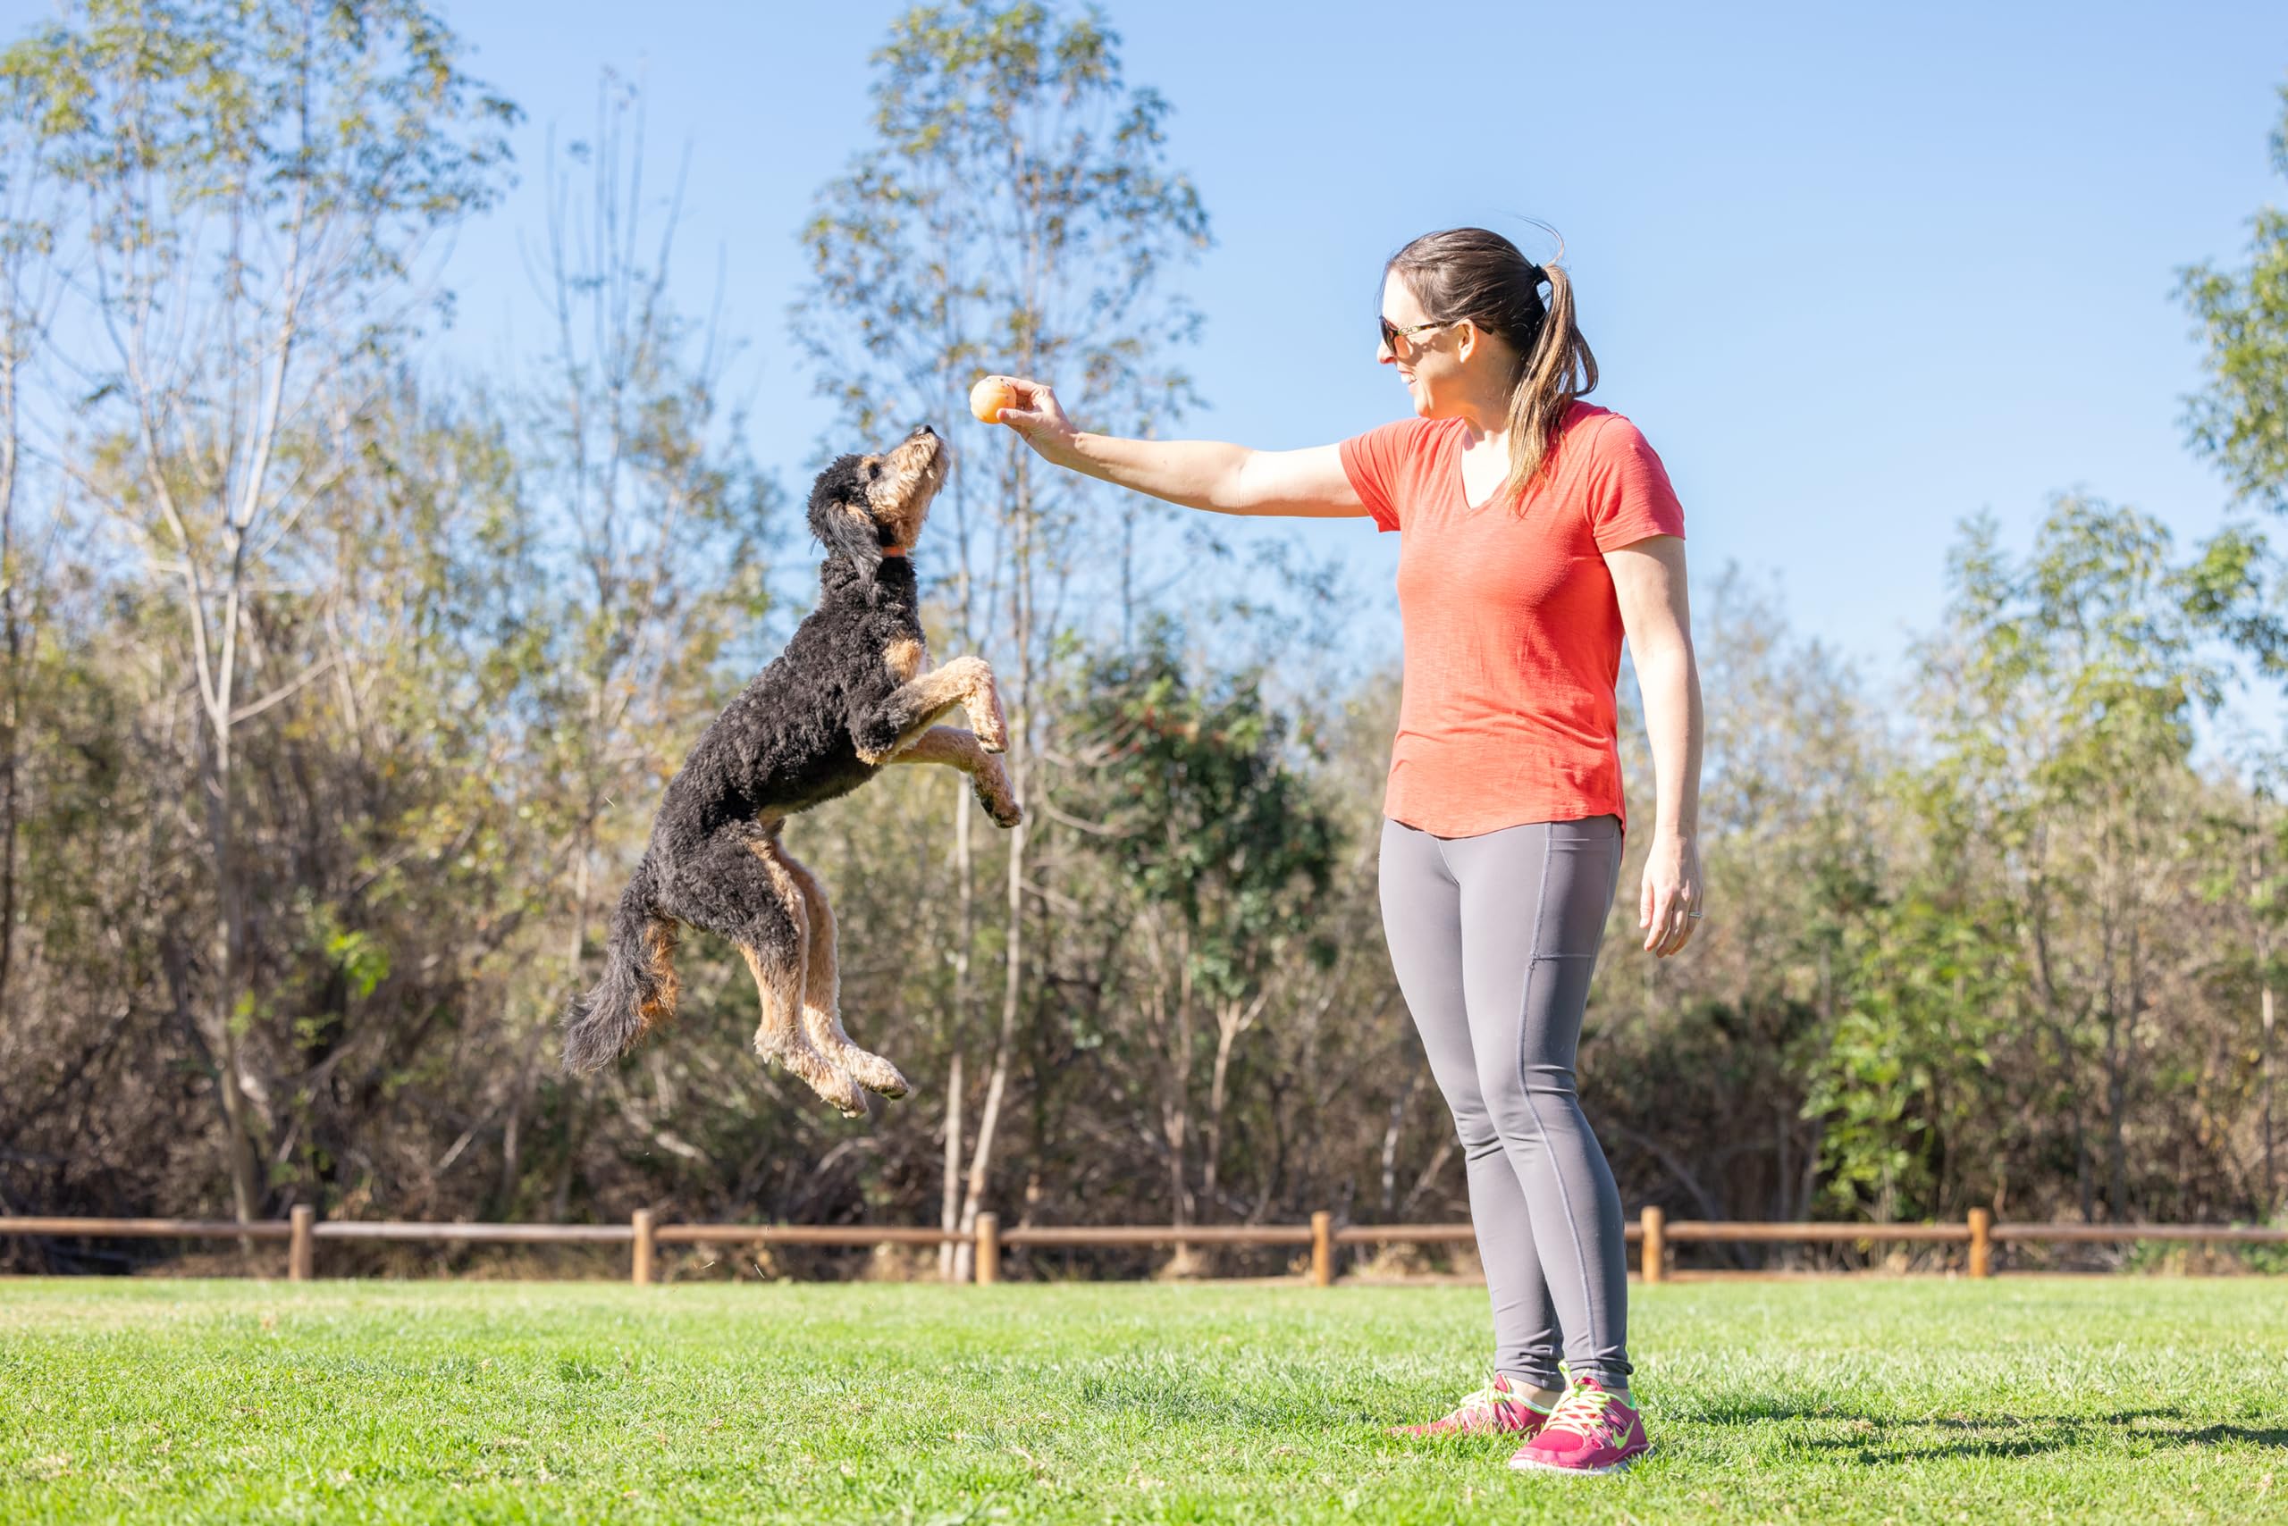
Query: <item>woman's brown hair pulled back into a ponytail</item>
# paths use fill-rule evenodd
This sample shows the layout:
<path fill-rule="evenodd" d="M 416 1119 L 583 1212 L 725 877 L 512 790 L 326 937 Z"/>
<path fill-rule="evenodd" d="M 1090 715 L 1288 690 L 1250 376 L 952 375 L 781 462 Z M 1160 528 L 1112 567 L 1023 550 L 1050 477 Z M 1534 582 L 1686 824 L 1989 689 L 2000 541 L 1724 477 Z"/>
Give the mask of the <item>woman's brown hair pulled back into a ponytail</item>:
<path fill-rule="evenodd" d="M 1405 279 L 1432 318 L 1469 318 L 1517 352 L 1508 414 L 1510 476 L 1501 490 L 1524 512 L 1526 490 L 1549 464 L 1565 412 L 1597 387 L 1597 357 L 1574 323 L 1572 277 L 1556 261 L 1535 265 L 1487 229 L 1423 233 L 1391 256 L 1389 272 Z M 1547 304 L 1542 281 L 1549 284 Z"/>

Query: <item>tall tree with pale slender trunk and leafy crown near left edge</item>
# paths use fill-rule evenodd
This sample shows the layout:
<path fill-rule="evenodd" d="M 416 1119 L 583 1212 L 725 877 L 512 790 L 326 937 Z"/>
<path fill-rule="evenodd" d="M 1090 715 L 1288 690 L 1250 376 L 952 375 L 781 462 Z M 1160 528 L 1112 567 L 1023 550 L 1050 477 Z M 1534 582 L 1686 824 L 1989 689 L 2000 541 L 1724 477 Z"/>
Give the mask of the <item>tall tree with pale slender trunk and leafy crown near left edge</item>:
<path fill-rule="evenodd" d="M 238 1059 L 259 1009 L 238 734 L 318 677 L 265 663 L 259 606 L 297 581 L 295 533 L 416 318 L 416 261 L 492 201 L 515 112 L 410 0 L 82 0 L 0 80 L 78 199 L 78 419 L 105 444 L 73 478 L 172 590 L 199 698 L 217 890 L 201 1014 L 252 1219 L 268 1126 Z"/>

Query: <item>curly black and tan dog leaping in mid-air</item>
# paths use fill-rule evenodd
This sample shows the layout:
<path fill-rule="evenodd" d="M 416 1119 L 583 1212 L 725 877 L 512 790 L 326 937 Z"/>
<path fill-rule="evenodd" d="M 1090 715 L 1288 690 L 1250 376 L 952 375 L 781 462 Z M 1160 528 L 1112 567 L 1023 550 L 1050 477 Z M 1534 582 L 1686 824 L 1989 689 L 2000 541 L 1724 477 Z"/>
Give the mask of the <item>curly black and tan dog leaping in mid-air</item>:
<path fill-rule="evenodd" d="M 842 1032 L 835 915 L 778 828 L 849 794 L 883 764 L 943 764 L 970 776 L 1002 826 L 1009 792 L 993 670 L 979 657 L 929 666 L 913 563 L 945 444 L 924 423 L 885 455 L 844 455 L 810 490 L 826 547 L 819 604 L 707 728 L 668 780 L 652 842 L 611 917 L 604 979 L 565 1014 L 565 1068 L 599 1071 L 675 1016 L 677 924 L 739 945 L 762 993 L 755 1052 L 801 1075 L 847 1114 L 867 1091 L 904 1096 L 906 1078 Z M 961 707 L 972 730 L 938 725 Z"/>

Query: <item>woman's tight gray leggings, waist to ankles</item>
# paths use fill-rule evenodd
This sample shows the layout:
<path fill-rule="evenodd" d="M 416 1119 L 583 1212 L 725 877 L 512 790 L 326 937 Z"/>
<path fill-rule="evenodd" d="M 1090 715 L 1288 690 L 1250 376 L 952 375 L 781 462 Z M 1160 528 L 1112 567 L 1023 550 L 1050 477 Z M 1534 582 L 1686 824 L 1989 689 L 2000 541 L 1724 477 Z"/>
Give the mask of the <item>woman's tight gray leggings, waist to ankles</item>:
<path fill-rule="evenodd" d="M 1480 837 L 1382 824 L 1382 933 L 1469 1165 L 1494 1293 L 1494 1368 L 1629 1380 L 1620 1190 L 1574 1094 L 1588 977 L 1620 881 L 1620 821 Z"/>

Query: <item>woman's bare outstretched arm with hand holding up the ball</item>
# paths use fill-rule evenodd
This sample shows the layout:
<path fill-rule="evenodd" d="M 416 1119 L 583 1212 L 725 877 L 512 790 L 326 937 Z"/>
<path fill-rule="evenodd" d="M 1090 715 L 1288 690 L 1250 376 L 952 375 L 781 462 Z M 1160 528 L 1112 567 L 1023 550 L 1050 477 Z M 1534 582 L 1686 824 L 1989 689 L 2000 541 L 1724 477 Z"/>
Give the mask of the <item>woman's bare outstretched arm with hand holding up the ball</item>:
<path fill-rule="evenodd" d="M 1249 451 L 1215 439 L 1082 435 L 1046 382 L 1000 380 L 1023 403 L 1004 407 L 1000 421 L 1023 435 L 1041 460 L 1066 471 L 1217 515 L 1341 519 L 1366 512 L 1336 446 Z"/>

